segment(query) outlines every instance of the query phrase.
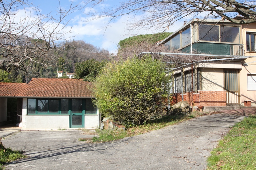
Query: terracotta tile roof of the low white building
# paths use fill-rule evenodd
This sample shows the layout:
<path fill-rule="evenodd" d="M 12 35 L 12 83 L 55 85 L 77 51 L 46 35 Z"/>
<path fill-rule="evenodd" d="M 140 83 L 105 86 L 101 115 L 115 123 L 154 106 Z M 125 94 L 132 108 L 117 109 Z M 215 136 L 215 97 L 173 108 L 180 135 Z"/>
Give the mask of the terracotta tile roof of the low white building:
<path fill-rule="evenodd" d="M 26 83 L 0 83 L 0 97 L 93 98 L 92 83 L 83 79 L 32 78 Z"/>

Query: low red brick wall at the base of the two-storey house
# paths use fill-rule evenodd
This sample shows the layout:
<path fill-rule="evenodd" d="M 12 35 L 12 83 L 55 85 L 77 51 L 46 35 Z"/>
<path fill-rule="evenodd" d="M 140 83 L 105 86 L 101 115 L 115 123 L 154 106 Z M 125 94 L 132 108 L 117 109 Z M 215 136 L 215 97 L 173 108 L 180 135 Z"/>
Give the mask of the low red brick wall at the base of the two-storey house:
<path fill-rule="evenodd" d="M 193 93 L 194 106 L 226 106 L 226 91 L 197 91 Z M 182 101 L 181 93 L 172 96 L 171 105 Z M 192 92 L 185 92 L 184 101 L 192 103 Z"/>

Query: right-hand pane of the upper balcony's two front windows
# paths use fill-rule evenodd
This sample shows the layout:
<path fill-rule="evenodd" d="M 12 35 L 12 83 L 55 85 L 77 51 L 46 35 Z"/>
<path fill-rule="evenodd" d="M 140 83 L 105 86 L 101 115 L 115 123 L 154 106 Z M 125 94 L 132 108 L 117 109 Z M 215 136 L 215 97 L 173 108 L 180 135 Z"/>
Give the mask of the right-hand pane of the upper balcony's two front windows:
<path fill-rule="evenodd" d="M 231 26 L 221 26 L 220 41 L 239 43 L 239 28 Z"/>

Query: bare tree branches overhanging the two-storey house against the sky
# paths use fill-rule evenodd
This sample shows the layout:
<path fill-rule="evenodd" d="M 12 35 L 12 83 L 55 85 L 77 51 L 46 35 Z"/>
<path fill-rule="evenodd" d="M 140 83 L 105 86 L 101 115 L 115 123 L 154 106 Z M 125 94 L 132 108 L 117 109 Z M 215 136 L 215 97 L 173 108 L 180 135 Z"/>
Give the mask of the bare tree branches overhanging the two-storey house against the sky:
<path fill-rule="evenodd" d="M 105 0 L 84 2 L 97 8 Z M 253 23 L 256 22 L 255 7 L 254 0 L 123 0 L 120 5 L 104 8 L 102 11 L 91 10 L 88 14 L 95 19 L 108 17 L 108 24 L 119 16 L 134 18 L 137 15 L 137 18 L 128 23 L 132 25 L 132 30 L 141 26 L 169 29 L 178 20 L 186 24 L 192 18 L 222 18 L 236 24 Z M 241 17 L 236 17 L 237 15 Z"/>

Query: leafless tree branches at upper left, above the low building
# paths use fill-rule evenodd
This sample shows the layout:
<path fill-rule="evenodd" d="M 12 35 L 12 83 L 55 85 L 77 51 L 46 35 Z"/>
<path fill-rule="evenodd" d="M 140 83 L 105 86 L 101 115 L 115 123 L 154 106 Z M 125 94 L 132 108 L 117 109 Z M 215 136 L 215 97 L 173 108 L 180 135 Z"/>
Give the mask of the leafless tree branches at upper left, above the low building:
<path fill-rule="evenodd" d="M 32 63 L 55 65 L 56 59 L 49 51 L 56 49 L 70 31 L 64 31 L 67 16 L 81 8 L 71 1 L 69 8 L 63 9 L 59 1 L 57 14 L 41 14 L 32 1 L 0 0 L 0 69 L 27 71 Z"/>

